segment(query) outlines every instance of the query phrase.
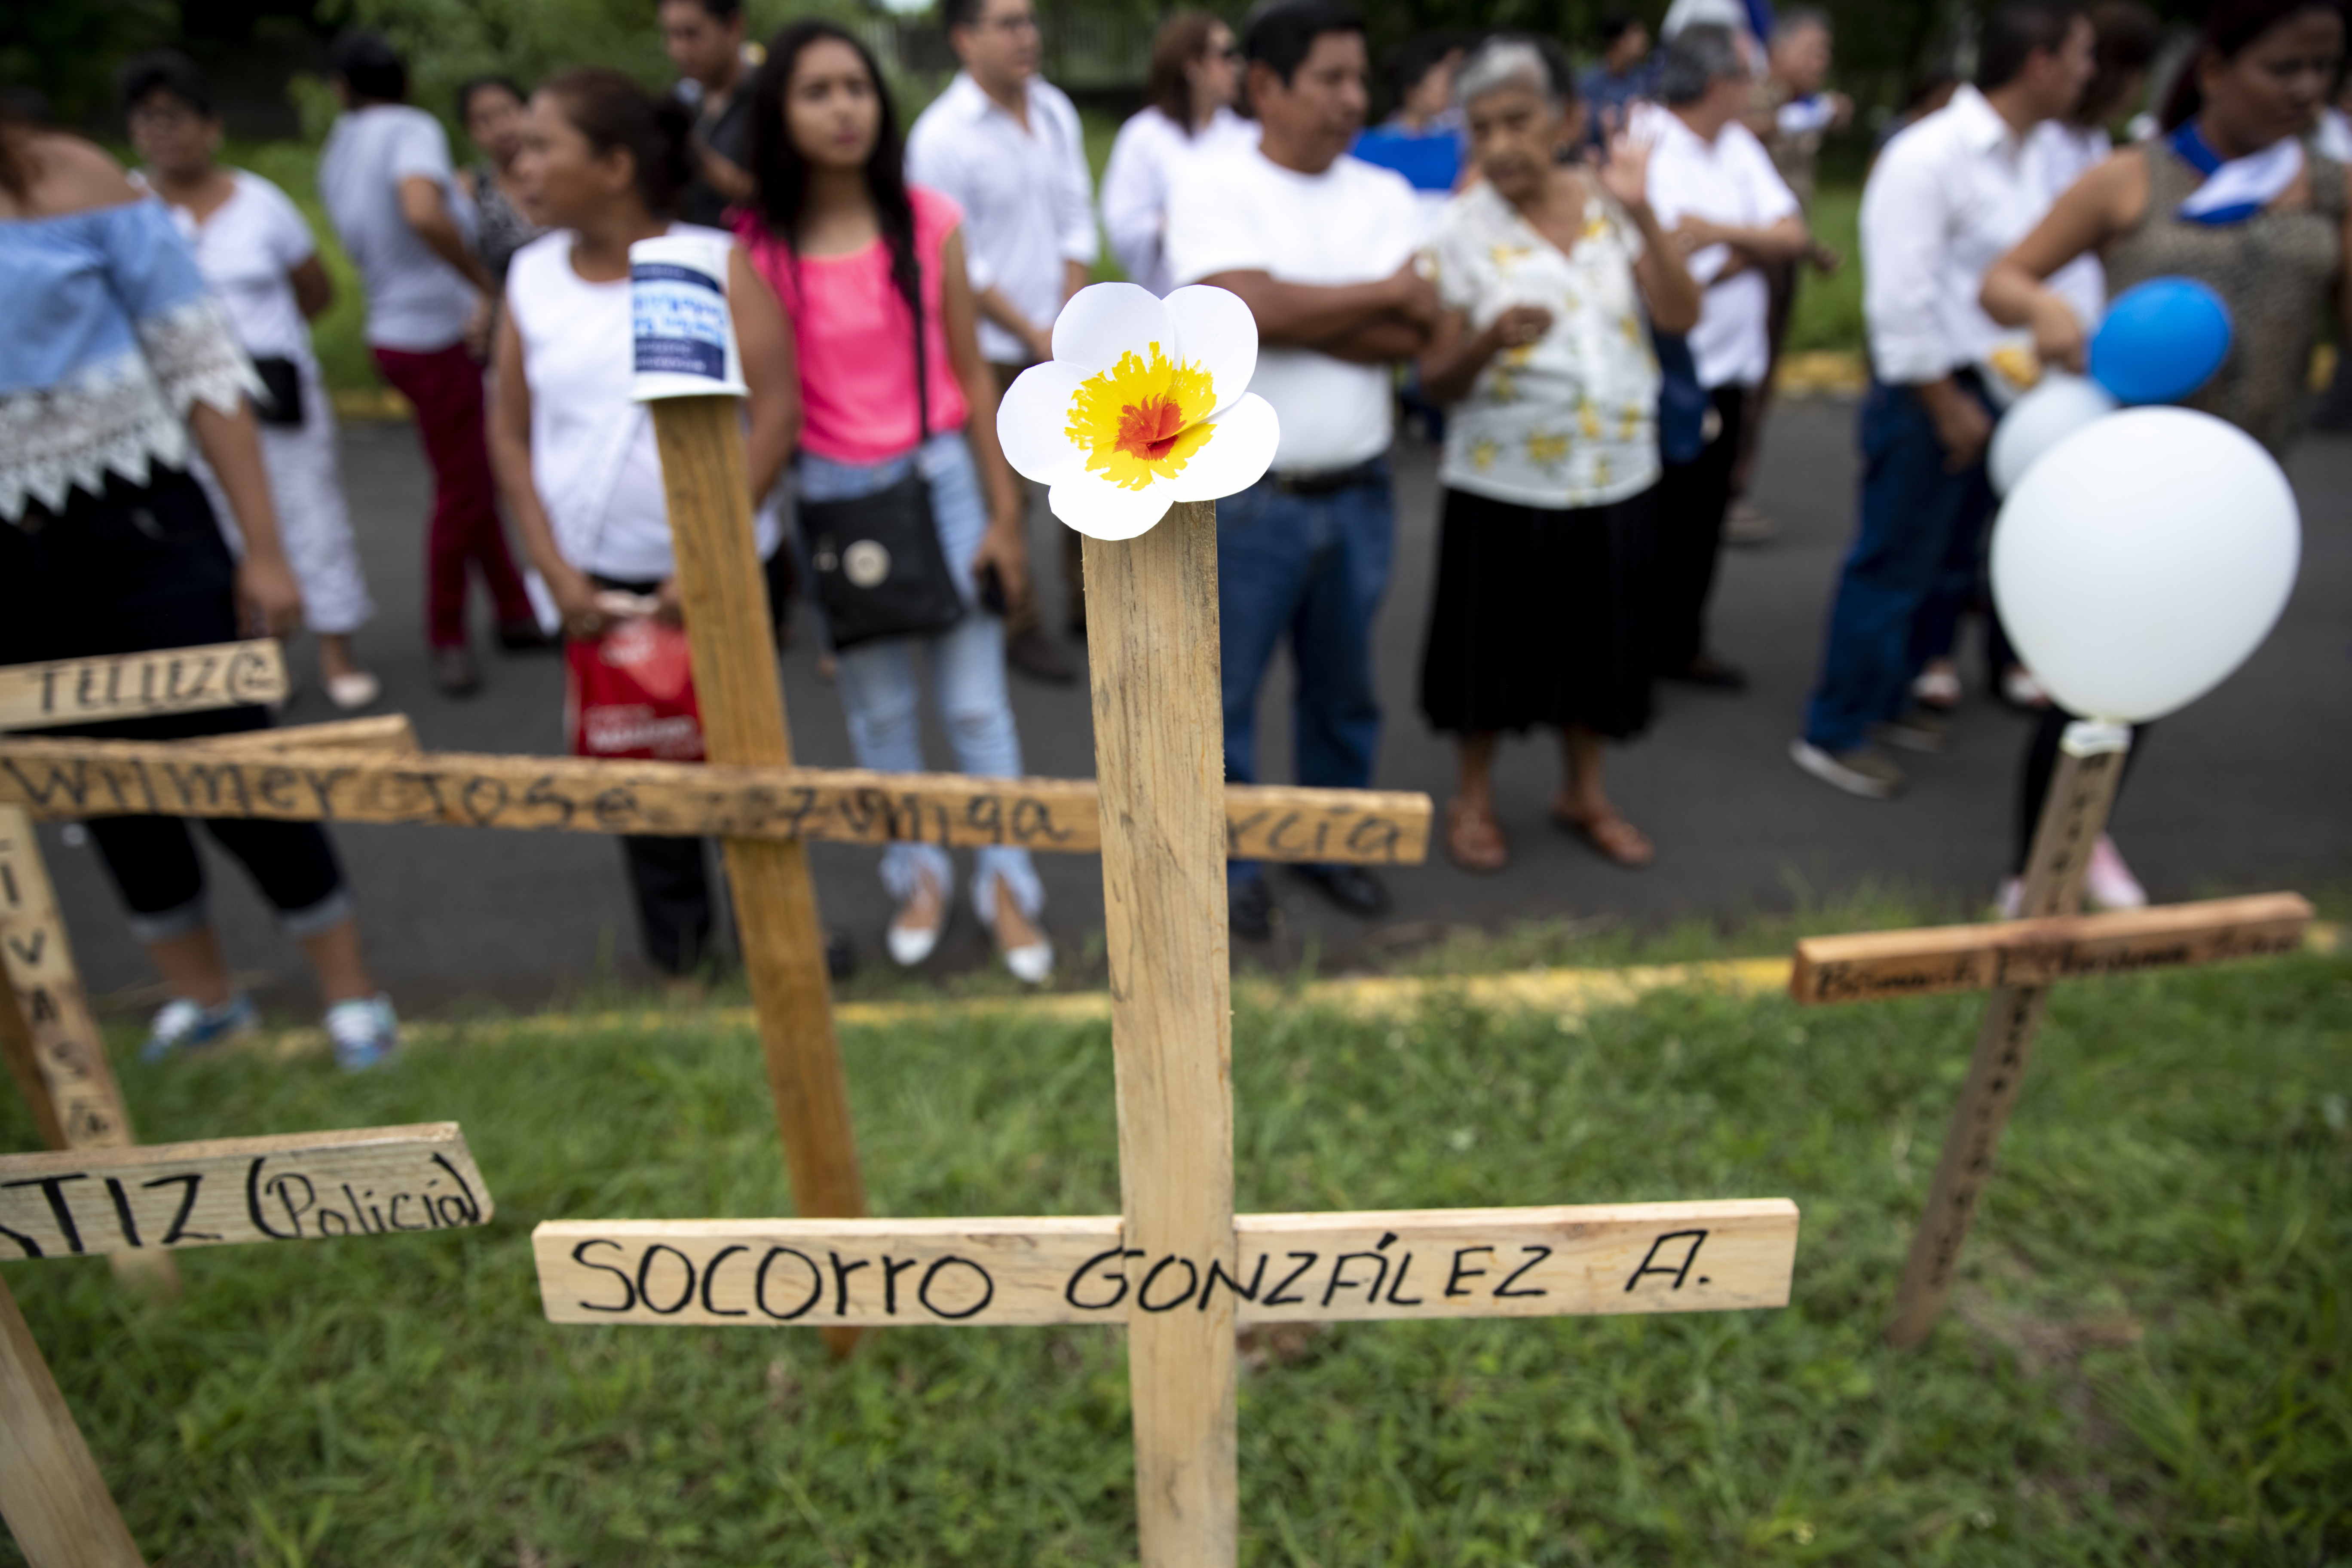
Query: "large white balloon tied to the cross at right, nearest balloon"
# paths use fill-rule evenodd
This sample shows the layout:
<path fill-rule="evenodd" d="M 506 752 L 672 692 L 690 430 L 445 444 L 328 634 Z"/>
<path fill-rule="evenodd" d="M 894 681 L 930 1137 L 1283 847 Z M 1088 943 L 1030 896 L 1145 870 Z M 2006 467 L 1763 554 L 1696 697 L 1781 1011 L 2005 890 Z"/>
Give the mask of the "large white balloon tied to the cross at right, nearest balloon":
<path fill-rule="evenodd" d="M 2058 442 L 1992 527 L 1992 602 L 2072 712 L 2185 708 L 2263 644 L 2296 585 L 2296 491 L 2237 425 L 2124 409 Z"/>

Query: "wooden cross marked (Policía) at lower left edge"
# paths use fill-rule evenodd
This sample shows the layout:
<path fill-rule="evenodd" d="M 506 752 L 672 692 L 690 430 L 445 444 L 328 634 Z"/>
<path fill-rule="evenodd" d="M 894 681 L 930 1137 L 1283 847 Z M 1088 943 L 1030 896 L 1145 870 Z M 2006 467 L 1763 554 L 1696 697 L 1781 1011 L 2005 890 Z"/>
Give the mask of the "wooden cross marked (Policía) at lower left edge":
<path fill-rule="evenodd" d="M 0 1255 L 169 1258 L 188 1246 L 487 1225 L 454 1121 L 0 1154 Z M 0 1519 L 31 1568 L 141 1568 L 89 1443 L 0 1279 Z"/>

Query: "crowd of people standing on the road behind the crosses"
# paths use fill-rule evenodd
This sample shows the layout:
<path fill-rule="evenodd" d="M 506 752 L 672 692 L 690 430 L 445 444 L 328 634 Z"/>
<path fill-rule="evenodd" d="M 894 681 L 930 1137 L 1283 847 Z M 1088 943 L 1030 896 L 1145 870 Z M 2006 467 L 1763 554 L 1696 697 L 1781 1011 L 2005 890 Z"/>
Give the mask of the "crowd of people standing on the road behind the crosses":
<path fill-rule="evenodd" d="M 383 38 L 336 42 L 318 195 L 433 470 L 437 684 L 482 682 L 475 576 L 515 654 L 677 623 L 659 458 L 630 400 L 628 252 L 699 233 L 731 256 L 779 639 L 795 599 L 814 599 L 861 766 L 924 766 L 929 686 L 960 771 L 1018 773 L 1007 672 L 1075 679 L 1084 585 L 1061 529 L 1056 637 L 1028 552 L 1035 498 L 997 449 L 995 409 L 1051 357 L 1054 317 L 1108 237 L 1155 292 L 1214 284 L 1249 306 L 1254 390 L 1282 421 L 1265 480 L 1218 508 L 1228 778 L 1258 778 L 1258 691 L 1287 646 L 1298 783 L 1374 783 L 1402 409 L 1442 444 L 1418 693 L 1461 764 L 1444 851 L 1475 872 L 1510 863 L 1494 766 L 1503 736 L 1543 729 L 1562 755 L 1552 823 L 1646 865 L 1653 844 L 1611 802 L 1604 757 L 1646 729 L 1661 679 L 1745 689 L 1708 630 L 1717 559 L 1726 538 L 1773 534 L 1748 498 L 1773 367 L 1804 275 L 1846 263 L 1809 226 L 1823 141 L 1856 113 L 1828 87 L 1828 19 L 1677 0 L 1656 47 L 1632 16 L 1592 40 L 1418 38 L 1385 61 L 1392 118 L 1367 125 L 1374 56 L 1341 0 L 1272 0 L 1240 28 L 1178 12 L 1096 190 L 1080 113 L 1040 75 L 1033 0 L 941 12 L 960 71 L 903 139 L 856 33 L 797 21 L 753 47 L 739 0 L 659 0 L 675 92 L 600 68 L 468 80 L 452 106 L 480 153 L 466 169 Z M 1583 73 L 1564 42 L 1585 45 Z M 1985 595 L 1985 444 L 2037 367 L 2079 369 L 2112 292 L 2209 282 L 2237 343 L 2194 404 L 2272 449 L 2305 414 L 2300 378 L 2321 315 L 2345 303 L 2352 244 L 2352 122 L 2328 108 L 2343 5 L 2216 0 L 2157 113 L 2114 150 L 2159 42 L 2136 0 L 2004 0 L 1969 80 L 1929 75 L 1882 143 L 1858 256 L 1872 374 L 1858 529 L 1790 748 L 1828 785 L 1891 797 L 1905 778 L 1884 748 L 1943 745 L 1971 616 L 1992 691 L 2049 708 Z M 183 56 L 134 61 L 122 99 L 132 176 L 92 143 L 0 120 L 0 287 L 26 322 L 0 346 L 0 663 L 306 618 L 327 696 L 367 708 L 381 686 L 353 632 L 372 602 L 308 334 L 332 292 L 318 242 L 282 190 L 219 162 L 216 106 Z M 804 545 L 818 520 L 851 515 L 915 520 L 927 548 L 908 555 L 934 562 L 941 616 L 877 628 L 828 597 L 835 569 Z M 2046 712 L 2020 766 L 2020 858 L 2065 717 Z M 263 722 L 230 710 L 103 733 Z M 310 952 L 346 1065 L 381 1060 L 395 1020 L 327 837 L 212 830 Z M 92 832 L 174 997 L 151 1051 L 245 1027 L 186 827 Z M 706 846 L 626 839 L 623 863 L 647 957 L 699 969 Z M 1388 907 L 1364 867 L 1296 870 L 1343 910 Z M 889 957 L 920 964 L 953 914 L 955 863 L 898 844 L 882 879 Z M 2112 844 L 2091 896 L 2143 898 Z M 971 907 L 1011 973 L 1051 976 L 1023 851 L 978 851 Z M 1263 867 L 1232 863 L 1232 933 L 1263 940 L 1275 910 Z"/>

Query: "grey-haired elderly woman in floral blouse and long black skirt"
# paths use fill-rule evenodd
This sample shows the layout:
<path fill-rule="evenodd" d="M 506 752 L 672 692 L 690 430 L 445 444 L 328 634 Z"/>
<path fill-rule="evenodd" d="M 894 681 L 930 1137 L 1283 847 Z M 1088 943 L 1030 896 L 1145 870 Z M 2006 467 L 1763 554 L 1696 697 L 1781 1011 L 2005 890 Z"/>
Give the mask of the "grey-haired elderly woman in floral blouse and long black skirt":
<path fill-rule="evenodd" d="M 1505 731 L 1552 729 L 1550 820 L 1618 865 L 1649 837 L 1602 788 L 1602 743 L 1649 724 L 1637 576 L 1658 487 L 1658 360 L 1649 322 L 1689 331 L 1698 284 L 1649 207 L 1649 153 L 1625 136 L 1599 169 L 1562 162 L 1583 134 L 1550 45 L 1498 38 L 1456 78 L 1479 181 L 1430 244 L 1437 331 L 1421 386 L 1451 404 L 1437 590 L 1421 708 L 1461 750 L 1446 853 L 1508 863 L 1494 806 Z"/>

